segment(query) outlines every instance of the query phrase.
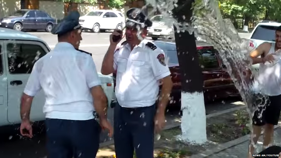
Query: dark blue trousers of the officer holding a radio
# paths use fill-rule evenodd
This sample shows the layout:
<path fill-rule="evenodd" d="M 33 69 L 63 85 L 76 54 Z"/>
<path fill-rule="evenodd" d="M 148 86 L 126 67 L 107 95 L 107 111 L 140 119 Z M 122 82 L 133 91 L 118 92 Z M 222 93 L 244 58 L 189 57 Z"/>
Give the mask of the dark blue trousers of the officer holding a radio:
<path fill-rule="evenodd" d="M 153 158 L 155 104 L 141 108 L 114 107 L 114 144 L 117 158 Z"/>

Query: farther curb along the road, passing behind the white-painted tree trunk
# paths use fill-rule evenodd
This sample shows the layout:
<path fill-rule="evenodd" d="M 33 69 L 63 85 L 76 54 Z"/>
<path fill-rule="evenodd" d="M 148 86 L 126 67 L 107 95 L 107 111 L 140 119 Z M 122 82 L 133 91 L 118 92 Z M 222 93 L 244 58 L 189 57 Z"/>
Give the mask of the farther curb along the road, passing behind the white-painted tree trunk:
<path fill-rule="evenodd" d="M 229 112 L 232 112 L 232 111 L 240 110 L 242 108 L 246 108 L 246 105 L 238 106 L 238 107 L 235 107 L 235 108 L 229 108 L 227 110 L 219 111 L 217 113 L 208 114 L 208 115 L 206 115 L 206 119 L 210 118 L 210 117 L 219 116 L 219 115 L 222 115 L 222 114 L 225 114 L 225 113 L 229 113 Z M 170 125 L 166 125 L 163 130 L 168 130 L 168 129 L 171 129 L 171 128 L 175 128 L 175 127 L 178 127 L 180 125 L 181 125 L 181 122 L 175 122 L 175 123 L 172 123 Z M 109 145 L 112 145 L 112 144 L 114 144 L 114 139 L 109 140 L 107 142 L 100 143 L 100 147 L 105 147 L 105 146 L 109 146 Z"/>

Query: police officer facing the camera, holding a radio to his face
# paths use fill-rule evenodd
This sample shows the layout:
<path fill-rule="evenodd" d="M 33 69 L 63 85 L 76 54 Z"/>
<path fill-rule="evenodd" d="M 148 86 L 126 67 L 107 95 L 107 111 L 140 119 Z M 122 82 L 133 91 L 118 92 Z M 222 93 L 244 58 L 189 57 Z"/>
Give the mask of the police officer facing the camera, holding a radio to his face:
<path fill-rule="evenodd" d="M 170 71 L 163 50 L 144 39 L 152 22 L 137 8 L 126 13 L 126 41 L 118 31 L 110 35 L 110 46 L 101 73 L 116 72 L 114 140 L 117 158 L 153 158 L 154 132 L 165 125 L 165 108 L 172 88 Z M 116 39 L 116 38 L 115 38 Z M 159 84 L 161 93 L 157 101 Z"/>

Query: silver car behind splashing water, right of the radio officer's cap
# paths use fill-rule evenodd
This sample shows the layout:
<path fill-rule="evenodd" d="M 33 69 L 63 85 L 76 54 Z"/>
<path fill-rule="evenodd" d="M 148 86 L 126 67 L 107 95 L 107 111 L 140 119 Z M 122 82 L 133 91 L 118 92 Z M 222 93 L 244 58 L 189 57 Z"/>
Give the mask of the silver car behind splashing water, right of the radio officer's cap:
<path fill-rule="evenodd" d="M 162 15 L 155 15 L 151 18 L 152 26 L 147 28 L 147 37 L 153 40 L 158 38 L 174 39 L 174 28 L 165 24 Z"/>

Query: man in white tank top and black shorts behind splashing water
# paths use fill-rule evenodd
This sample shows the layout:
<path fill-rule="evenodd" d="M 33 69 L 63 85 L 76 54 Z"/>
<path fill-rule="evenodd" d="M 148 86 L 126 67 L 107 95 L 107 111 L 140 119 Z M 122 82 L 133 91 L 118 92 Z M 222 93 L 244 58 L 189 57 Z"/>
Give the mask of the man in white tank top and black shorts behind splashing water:
<path fill-rule="evenodd" d="M 272 65 L 266 65 L 265 63 L 273 63 L 275 59 L 272 54 L 275 54 L 279 49 L 281 49 L 281 26 L 276 28 L 275 43 L 264 42 L 250 53 L 253 60 L 252 64 L 260 64 L 259 75 L 256 79 L 256 83 L 258 84 L 254 87 L 259 87 L 258 91 L 265 95 L 265 98 L 259 100 L 263 102 L 265 106 L 259 107 L 252 118 L 252 139 L 256 144 L 262 129 L 264 129 L 264 148 L 269 146 L 271 142 L 274 125 L 278 124 L 281 111 L 281 61 Z M 278 51 L 276 53 L 280 52 Z M 258 58 L 259 56 L 261 56 L 261 58 Z M 265 110 L 261 108 L 265 108 Z M 248 157 L 252 157 L 252 154 L 254 154 L 253 149 L 253 145 L 250 144 Z"/>

